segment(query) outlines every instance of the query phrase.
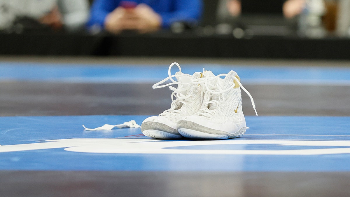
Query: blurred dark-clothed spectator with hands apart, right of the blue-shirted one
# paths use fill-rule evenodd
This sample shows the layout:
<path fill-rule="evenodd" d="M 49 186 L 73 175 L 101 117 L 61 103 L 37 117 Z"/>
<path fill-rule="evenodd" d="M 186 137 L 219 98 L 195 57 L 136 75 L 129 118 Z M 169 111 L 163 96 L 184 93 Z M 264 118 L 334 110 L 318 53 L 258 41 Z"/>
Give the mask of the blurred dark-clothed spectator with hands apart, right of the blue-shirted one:
<path fill-rule="evenodd" d="M 285 18 L 300 14 L 305 2 L 306 0 L 220 0 L 215 33 L 233 34 L 235 38 L 291 35 L 294 33 L 292 29 L 296 29 L 296 22 Z"/>

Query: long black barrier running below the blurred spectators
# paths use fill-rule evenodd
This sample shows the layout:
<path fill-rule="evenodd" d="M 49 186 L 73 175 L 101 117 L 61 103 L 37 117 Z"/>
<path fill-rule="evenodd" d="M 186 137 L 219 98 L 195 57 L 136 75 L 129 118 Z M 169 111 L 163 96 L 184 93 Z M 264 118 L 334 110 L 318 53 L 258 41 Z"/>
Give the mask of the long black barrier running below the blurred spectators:
<path fill-rule="evenodd" d="M 175 34 L 0 34 L 1 55 L 350 59 L 350 39 Z"/>

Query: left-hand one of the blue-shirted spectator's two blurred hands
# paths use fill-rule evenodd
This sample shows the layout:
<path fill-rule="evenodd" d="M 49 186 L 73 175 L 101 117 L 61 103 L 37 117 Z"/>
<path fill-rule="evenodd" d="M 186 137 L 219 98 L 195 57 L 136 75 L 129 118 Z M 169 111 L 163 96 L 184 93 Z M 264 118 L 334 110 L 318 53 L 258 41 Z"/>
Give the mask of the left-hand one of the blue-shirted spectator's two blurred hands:
<path fill-rule="evenodd" d="M 120 33 L 124 29 L 125 9 L 117 7 L 106 16 L 105 29 L 111 33 Z"/>

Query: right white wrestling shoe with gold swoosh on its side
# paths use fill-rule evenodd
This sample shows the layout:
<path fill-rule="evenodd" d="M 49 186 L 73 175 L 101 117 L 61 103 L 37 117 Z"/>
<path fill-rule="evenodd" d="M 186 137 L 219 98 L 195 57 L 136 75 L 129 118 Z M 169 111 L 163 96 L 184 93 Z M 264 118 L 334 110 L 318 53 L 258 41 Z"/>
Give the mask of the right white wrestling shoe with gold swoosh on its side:
<path fill-rule="evenodd" d="M 225 76 L 225 79 L 219 78 L 220 76 Z M 177 122 L 177 129 L 182 136 L 215 140 L 245 134 L 247 127 L 242 111 L 240 88 L 248 94 L 255 110 L 252 96 L 240 83 L 237 73 L 232 70 L 215 78 L 217 80 L 206 80 L 204 84 L 205 95 L 201 109 Z M 256 110 L 255 114 L 258 115 Z"/>

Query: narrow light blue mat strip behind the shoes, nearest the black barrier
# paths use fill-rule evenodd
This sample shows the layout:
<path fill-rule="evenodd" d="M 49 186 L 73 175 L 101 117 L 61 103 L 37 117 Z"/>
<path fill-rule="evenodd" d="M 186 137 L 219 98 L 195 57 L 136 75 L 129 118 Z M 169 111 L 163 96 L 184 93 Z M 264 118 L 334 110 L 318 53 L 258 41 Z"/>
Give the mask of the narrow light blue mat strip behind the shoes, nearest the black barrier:
<path fill-rule="evenodd" d="M 267 67 L 219 64 L 183 64 L 183 73 L 215 75 L 235 70 L 243 83 L 350 85 L 350 68 L 345 67 Z M 53 81 L 76 83 L 157 82 L 168 76 L 169 65 L 58 64 L 0 62 L 0 81 Z M 174 66 L 172 74 L 177 70 Z"/>

